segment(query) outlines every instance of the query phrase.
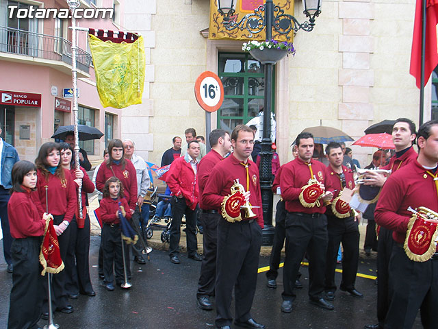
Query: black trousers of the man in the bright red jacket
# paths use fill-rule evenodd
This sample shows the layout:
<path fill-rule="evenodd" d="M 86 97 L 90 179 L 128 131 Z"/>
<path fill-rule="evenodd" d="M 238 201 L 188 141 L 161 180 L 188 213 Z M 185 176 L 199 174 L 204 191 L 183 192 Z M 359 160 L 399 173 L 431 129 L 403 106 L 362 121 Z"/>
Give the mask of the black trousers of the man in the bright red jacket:
<path fill-rule="evenodd" d="M 170 226 L 169 256 L 179 254 L 179 239 L 181 238 L 181 219 L 185 215 L 185 235 L 187 236 L 187 250 L 189 256 L 196 254 L 198 242 L 196 240 L 196 210 L 190 209 L 183 197 L 172 197 L 172 225 Z"/>

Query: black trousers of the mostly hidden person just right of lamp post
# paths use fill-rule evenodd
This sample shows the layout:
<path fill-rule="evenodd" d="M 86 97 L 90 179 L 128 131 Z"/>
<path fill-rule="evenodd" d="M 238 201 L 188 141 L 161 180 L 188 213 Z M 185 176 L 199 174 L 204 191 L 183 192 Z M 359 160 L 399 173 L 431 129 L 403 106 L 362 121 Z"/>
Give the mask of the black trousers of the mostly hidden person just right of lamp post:
<path fill-rule="evenodd" d="M 268 280 L 276 279 L 279 275 L 281 249 L 283 249 L 286 238 L 286 213 L 285 202 L 280 200 L 276 204 L 274 241 L 269 258 L 269 271 L 266 272 Z"/>

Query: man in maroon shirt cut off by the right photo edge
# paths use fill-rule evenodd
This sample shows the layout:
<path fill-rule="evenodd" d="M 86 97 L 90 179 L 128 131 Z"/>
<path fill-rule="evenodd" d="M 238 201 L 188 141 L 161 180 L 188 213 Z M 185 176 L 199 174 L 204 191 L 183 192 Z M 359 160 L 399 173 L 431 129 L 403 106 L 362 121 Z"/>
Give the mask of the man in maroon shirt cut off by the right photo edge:
<path fill-rule="evenodd" d="M 405 254 L 403 243 L 412 215 L 409 206 L 438 212 L 438 121 L 424 123 L 417 136 L 417 160 L 389 176 L 374 212 L 376 223 L 394 231 L 385 328 L 412 328 L 419 308 L 424 328 L 437 327 L 438 253 L 425 262 L 415 262 Z M 378 280 L 380 284 L 380 273 Z"/>

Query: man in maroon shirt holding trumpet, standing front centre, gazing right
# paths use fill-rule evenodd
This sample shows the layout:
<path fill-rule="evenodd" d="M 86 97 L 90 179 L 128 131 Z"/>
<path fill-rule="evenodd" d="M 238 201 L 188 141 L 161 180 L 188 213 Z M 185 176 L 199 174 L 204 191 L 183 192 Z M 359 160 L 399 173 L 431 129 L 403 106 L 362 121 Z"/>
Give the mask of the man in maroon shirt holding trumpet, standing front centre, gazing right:
<path fill-rule="evenodd" d="M 248 158 L 253 151 L 254 132 L 247 125 L 237 125 L 231 133 L 234 152 L 216 164 L 202 195 L 202 206 L 221 210 L 224 198 L 231 194 L 231 186 L 239 180 L 244 186 L 245 199 L 253 208 L 255 217 L 230 222 L 218 221 L 218 250 L 216 260 L 216 327 L 230 329 L 233 317 L 231 297 L 235 295 L 235 325 L 246 328 L 265 328 L 250 315 L 255 288 L 261 245 L 263 215 L 259 170 Z"/>

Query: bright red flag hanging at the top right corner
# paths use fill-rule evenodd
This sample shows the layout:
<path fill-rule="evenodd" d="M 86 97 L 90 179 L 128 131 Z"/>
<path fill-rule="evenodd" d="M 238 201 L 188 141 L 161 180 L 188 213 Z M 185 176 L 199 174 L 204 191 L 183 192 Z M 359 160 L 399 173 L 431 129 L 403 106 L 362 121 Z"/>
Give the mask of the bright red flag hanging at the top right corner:
<path fill-rule="evenodd" d="M 422 59 L 422 0 L 417 0 L 415 6 L 415 21 L 413 25 L 411 69 L 409 73 L 415 77 L 420 88 Z M 437 51 L 438 0 L 426 1 L 426 51 L 424 56 L 424 84 L 438 64 Z"/>

